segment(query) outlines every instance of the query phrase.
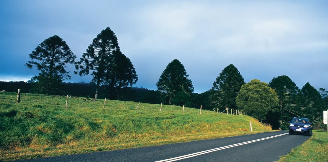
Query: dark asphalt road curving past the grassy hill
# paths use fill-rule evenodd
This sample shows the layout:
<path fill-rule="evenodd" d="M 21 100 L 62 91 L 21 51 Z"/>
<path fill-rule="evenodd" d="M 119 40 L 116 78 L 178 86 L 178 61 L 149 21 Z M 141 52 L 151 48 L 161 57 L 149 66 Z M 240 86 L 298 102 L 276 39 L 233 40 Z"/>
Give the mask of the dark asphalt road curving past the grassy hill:
<path fill-rule="evenodd" d="M 216 138 L 161 146 L 45 157 L 20 162 L 273 162 L 309 139 L 287 131 Z"/>

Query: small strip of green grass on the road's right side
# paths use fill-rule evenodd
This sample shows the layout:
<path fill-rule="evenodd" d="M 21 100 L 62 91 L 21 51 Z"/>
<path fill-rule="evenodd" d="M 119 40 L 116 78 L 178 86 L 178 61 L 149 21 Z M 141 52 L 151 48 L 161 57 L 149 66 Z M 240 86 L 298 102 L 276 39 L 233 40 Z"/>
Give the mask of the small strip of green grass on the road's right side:
<path fill-rule="evenodd" d="M 327 162 L 328 161 L 328 133 L 313 130 L 313 135 L 302 145 L 282 156 L 278 162 Z"/>

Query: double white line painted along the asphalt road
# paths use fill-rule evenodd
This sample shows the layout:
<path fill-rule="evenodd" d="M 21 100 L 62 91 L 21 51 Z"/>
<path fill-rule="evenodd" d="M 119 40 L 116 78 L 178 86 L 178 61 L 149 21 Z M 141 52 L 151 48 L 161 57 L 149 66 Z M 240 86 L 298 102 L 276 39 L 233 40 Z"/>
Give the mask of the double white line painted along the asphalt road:
<path fill-rule="evenodd" d="M 186 159 L 186 158 L 190 158 L 190 157 L 202 155 L 202 154 L 205 154 L 205 153 L 211 153 L 211 152 L 214 152 L 214 151 L 228 149 L 228 148 L 231 148 L 231 147 L 245 145 L 245 144 L 248 144 L 248 143 L 253 143 L 253 142 L 257 142 L 257 141 L 261 141 L 261 140 L 265 140 L 265 139 L 270 139 L 270 138 L 274 138 L 274 137 L 278 137 L 278 136 L 282 136 L 282 135 L 287 135 L 287 134 L 288 133 L 280 134 L 280 135 L 274 135 L 274 136 L 271 136 L 271 137 L 266 137 L 266 138 L 252 140 L 252 141 L 237 143 L 237 144 L 233 144 L 233 145 L 229 145 L 229 146 L 223 146 L 223 147 L 219 147 L 219 148 L 215 148 L 215 149 L 211 149 L 211 150 L 201 151 L 201 152 L 198 152 L 198 153 L 192 153 L 192 154 L 188 154 L 188 155 L 178 156 L 178 157 L 174 157 L 174 158 L 170 158 L 170 159 L 165 159 L 165 160 L 160 160 L 160 161 L 155 161 L 155 162 L 172 162 L 172 161 L 178 161 L 178 160 L 182 160 L 182 159 Z"/>

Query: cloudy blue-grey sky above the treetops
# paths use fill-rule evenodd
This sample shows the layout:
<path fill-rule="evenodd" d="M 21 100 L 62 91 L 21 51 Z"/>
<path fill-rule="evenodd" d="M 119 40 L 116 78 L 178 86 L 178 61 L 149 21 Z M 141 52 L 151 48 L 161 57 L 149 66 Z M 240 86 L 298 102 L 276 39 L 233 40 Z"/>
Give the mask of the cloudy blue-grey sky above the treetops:
<path fill-rule="evenodd" d="M 58 35 L 81 58 L 106 27 L 138 74 L 137 87 L 156 90 L 178 59 L 196 93 L 209 90 L 230 63 L 249 82 L 289 76 L 328 89 L 328 1 L 1 0 L 0 81 L 27 81 L 28 54 Z M 89 82 L 73 74 L 65 82 Z"/>

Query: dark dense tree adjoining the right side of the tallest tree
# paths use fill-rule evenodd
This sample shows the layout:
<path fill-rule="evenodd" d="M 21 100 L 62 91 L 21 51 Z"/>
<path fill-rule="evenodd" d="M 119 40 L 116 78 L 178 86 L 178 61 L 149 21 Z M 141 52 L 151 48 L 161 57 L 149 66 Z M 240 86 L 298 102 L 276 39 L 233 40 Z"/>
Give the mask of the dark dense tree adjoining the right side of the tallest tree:
<path fill-rule="evenodd" d="M 120 90 L 132 86 L 138 81 L 132 62 L 121 51 L 113 53 L 113 64 L 106 72 L 105 83 L 109 86 L 110 99 L 119 99 Z M 117 98 L 116 98 L 117 97 Z"/>

